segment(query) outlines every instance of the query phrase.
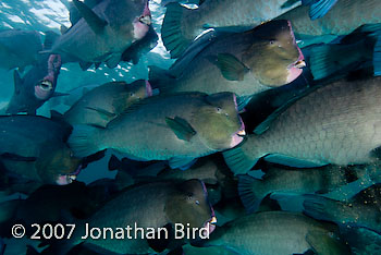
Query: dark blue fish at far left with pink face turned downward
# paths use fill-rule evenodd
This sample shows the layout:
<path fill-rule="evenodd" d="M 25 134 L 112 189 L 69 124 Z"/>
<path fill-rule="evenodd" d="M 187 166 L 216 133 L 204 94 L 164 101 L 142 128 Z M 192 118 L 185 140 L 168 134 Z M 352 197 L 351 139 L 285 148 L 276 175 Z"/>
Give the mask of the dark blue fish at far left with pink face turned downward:
<path fill-rule="evenodd" d="M 36 110 L 54 96 L 57 80 L 61 70 L 61 57 L 45 54 L 24 77 L 14 71 L 14 93 L 7 107 L 7 113 L 27 112 L 35 114 Z M 59 94 L 56 94 L 58 96 Z"/>

